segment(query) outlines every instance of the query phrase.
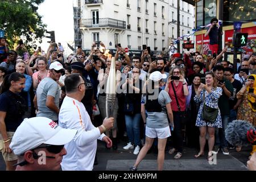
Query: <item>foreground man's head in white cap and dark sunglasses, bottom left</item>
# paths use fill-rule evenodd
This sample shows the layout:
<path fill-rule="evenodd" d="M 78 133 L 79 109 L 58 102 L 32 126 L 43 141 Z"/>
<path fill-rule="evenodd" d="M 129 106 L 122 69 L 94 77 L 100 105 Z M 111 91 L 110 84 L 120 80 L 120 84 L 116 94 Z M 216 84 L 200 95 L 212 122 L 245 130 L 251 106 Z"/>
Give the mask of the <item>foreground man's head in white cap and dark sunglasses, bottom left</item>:
<path fill-rule="evenodd" d="M 15 131 L 10 148 L 18 155 L 16 171 L 59 170 L 77 130 L 63 129 L 45 117 L 24 119 Z"/>

